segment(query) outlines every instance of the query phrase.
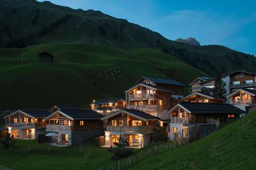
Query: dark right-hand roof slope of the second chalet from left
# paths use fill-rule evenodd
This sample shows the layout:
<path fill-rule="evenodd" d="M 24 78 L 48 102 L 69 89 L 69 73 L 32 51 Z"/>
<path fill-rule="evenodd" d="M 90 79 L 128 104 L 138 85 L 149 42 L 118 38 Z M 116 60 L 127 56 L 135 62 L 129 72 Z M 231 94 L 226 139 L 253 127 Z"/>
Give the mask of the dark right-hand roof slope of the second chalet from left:
<path fill-rule="evenodd" d="M 72 117 L 73 119 L 101 119 L 104 117 L 102 114 L 92 111 L 92 110 L 82 110 L 82 109 L 75 109 L 75 110 L 60 110 L 67 116 Z"/>

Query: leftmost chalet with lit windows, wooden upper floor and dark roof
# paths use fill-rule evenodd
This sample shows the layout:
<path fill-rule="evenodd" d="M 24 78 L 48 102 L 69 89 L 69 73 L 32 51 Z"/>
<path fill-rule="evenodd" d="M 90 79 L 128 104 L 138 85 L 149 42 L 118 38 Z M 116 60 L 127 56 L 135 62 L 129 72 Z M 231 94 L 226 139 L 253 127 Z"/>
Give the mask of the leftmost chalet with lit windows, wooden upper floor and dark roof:
<path fill-rule="evenodd" d="M 38 139 L 39 134 L 46 134 L 44 118 L 49 114 L 44 110 L 20 109 L 4 117 L 6 128 L 13 138 Z"/>

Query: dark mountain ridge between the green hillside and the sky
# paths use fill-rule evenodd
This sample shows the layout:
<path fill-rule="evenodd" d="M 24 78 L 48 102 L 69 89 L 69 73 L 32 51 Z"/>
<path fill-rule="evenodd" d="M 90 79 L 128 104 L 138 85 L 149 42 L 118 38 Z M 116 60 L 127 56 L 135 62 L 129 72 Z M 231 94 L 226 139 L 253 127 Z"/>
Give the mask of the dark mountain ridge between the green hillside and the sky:
<path fill-rule="evenodd" d="M 0 48 L 46 43 L 97 43 L 122 50 L 158 48 L 208 75 L 256 72 L 256 59 L 220 45 L 171 41 L 157 32 L 94 10 L 35 0 L 0 0 Z M 1 54 L 0 54 L 1 56 Z"/>

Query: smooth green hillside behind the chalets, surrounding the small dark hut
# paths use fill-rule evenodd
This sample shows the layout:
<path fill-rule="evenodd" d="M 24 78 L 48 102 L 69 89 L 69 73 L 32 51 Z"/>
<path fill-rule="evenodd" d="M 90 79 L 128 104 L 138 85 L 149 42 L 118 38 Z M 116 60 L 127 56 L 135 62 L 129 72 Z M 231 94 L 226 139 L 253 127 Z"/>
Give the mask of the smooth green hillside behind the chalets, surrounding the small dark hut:
<path fill-rule="evenodd" d="M 39 62 L 38 54 L 44 51 L 54 55 L 53 63 Z M 0 49 L 0 108 L 49 108 L 53 104 L 88 108 L 94 99 L 124 97 L 124 91 L 143 75 L 188 84 L 204 74 L 158 49 L 125 52 L 93 44 Z"/>

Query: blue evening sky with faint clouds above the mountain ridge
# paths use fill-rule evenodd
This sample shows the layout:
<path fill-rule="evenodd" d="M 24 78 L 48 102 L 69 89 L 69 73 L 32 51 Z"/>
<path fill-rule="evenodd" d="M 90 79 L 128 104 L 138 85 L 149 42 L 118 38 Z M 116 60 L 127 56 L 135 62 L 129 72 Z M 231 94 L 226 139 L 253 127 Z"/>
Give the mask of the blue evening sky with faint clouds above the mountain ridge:
<path fill-rule="evenodd" d="M 161 33 L 170 40 L 195 37 L 256 56 L 256 1 L 51 0 L 83 10 L 100 10 Z"/>

